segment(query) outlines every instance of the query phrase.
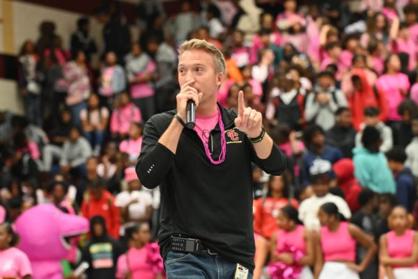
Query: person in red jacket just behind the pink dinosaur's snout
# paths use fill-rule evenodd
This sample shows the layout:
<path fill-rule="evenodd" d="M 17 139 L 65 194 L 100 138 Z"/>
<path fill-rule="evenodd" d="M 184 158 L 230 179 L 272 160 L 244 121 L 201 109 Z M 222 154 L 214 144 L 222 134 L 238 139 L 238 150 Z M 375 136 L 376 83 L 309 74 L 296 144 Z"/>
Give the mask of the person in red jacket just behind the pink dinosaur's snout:
<path fill-rule="evenodd" d="M 82 215 L 88 220 L 96 215 L 102 216 L 109 235 L 119 239 L 119 209 L 115 205 L 114 196 L 106 190 L 102 179 L 97 179 L 88 186 L 82 203 Z"/>

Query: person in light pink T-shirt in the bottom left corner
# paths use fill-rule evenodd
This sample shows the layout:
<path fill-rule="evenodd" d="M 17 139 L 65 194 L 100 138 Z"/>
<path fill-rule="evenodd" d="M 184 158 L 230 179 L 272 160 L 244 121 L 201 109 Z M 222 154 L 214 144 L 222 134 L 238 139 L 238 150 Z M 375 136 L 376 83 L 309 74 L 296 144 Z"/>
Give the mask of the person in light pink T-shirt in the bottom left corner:
<path fill-rule="evenodd" d="M 0 225 L 0 278 L 32 278 L 28 256 L 15 248 L 18 236 L 9 223 Z"/>

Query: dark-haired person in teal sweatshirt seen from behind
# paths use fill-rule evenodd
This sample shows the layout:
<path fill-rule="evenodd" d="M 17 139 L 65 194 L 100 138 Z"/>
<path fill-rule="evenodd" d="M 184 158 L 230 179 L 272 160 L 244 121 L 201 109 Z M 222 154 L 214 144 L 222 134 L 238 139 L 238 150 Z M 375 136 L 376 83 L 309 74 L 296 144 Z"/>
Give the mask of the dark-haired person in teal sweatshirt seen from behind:
<path fill-rule="evenodd" d="M 353 149 L 355 177 L 359 183 L 376 193 L 396 193 L 394 176 L 387 165 L 385 154 L 379 150 L 382 144 L 379 131 L 366 126 L 362 144 Z"/>

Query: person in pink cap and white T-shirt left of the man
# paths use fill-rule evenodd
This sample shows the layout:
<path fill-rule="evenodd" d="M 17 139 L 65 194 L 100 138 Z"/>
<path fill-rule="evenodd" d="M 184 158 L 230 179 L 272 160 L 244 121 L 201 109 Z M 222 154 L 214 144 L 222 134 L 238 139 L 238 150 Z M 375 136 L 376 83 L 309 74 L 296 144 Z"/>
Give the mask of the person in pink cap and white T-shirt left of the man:
<path fill-rule="evenodd" d="M 153 197 L 141 190 L 141 181 L 134 167 L 125 169 L 125 181 L 127 190 L 119 193 L 115 200 L 115 205 L 121 211 L 121 236 L 125 234 L 125 228 L 134 223 L 150 222 L 153 214 Z"/>

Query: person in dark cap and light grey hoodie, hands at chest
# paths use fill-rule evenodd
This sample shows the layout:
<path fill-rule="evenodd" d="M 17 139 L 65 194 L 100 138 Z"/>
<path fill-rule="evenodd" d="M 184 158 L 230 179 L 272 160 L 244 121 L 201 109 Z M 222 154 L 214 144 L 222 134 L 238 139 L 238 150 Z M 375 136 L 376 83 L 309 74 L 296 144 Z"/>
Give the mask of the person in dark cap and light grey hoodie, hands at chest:
<path fill-rule="evenodd" d="M 314 92 L 307 97 L 305 118 L 307 122 L 316 123 L 327 131 L 335 124 L 336 110 L 347 106 L 346 96 L 335 86 L 334 74 L 323 71 L 318 74 Z"/>

